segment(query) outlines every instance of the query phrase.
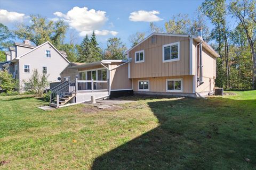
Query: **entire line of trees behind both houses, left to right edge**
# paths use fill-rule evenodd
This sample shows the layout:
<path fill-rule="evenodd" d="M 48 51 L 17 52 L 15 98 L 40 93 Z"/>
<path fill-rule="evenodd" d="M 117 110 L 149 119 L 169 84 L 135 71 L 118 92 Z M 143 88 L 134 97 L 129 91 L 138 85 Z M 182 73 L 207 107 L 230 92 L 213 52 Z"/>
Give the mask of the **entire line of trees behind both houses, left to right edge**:
<path fill-rule="evenodd" d="M 256 89 L 255 4 L 256 0 L 205 0 L 193 17 L 189 18 L 188 14 L 173 15 L 163 27 L 151 22 L 149 32 L 197 35 L 197 29 L 203 28 L 203 39 L 220 54 L 217 58 L 215 86 L 234 90 Z M 13 43 L 10 39 L 17 37 L 29 39 L 35 45 L 50 41 L 58 49 L 64 50 L 71 62 L 88 63 L 125 58 L 127 48 L 121 38 L 109 38 L 107 48 L 101 49 L 94 32 L 86 35 L 81 44 L 76 44 L 75 36 L 70 34 L 70 43 L 65 44 L 68 25 L 64 21 L 47 22 L 39 15 L 30 17 L 30 25 L 21 24 L 14 31 L 0 23 L 1 50 Z M 207 21 L 213 25 L 212 30 Z M 130 35 L 132 46 L 145 38 L 145 34 L 136 32 Z M 2 56 L 3 51 L 0 52 L 0 61 L 1 58 L 3 60 Z"/>

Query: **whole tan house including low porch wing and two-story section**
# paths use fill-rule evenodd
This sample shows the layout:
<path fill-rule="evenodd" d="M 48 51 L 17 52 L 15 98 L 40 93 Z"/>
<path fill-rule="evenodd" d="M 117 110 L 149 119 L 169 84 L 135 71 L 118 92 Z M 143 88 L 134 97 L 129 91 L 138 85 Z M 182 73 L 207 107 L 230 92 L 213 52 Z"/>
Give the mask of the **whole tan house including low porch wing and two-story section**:
<path fill-rule="evenodd" d="M 127 60 L 70 63 L 61 72 L 66 83 L 60 85 L 65 87 L 63 95 L 70 92 L 76 96 L 75 103 L 82 103 L 91 96 L 100 99 L 134 93 L 198 97 L 214 90 L 219 54 L 201 36 L 151 33 L 126 55 Z M 60 104 L 65 104 L 68 98 L 62 100 Z"/>

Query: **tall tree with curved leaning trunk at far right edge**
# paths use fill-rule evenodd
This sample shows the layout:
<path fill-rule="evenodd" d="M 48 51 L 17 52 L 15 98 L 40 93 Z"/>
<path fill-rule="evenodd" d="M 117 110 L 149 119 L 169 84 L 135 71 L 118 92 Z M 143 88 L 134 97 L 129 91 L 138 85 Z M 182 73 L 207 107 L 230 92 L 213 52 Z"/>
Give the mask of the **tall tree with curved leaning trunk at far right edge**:
<path fill-rule="evenodd" d="M 246 33 L 246 37 L 251 49 L 253 62 L 253 88 L 256 89 L 256 22 L 255 14 L 255 0 L 232 1 L 229 5 L 229 11 L 241 23 L 242 28 Z"/>

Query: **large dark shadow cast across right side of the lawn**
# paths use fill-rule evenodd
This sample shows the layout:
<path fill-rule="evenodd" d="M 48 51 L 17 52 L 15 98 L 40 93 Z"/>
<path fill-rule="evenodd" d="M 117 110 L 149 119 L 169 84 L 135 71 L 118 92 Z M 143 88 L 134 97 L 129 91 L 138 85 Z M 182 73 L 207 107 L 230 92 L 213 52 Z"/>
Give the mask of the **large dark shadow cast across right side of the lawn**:
<path fill-rule="evenodd" d="M 92 169 L 254 169 L 255 103 L 225 98 L 149 101 L 160 125 L 99 156 Z"/>

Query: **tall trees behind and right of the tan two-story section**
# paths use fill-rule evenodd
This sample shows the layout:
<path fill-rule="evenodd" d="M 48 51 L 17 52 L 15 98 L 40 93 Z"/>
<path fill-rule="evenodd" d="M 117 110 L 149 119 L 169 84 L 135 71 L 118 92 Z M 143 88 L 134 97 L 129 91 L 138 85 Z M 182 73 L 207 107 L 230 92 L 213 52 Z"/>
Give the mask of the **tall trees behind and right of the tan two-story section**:
<path fill-rule="evenodd" d="M 255 5 L 255 0 L 205 0 L 193 18 L 187 14 L 174 15 L 164 27 L 150 23 L 150 31 L 197 35 L 197 28 L 202 27 L 203 39 L 210 41 L 220 54 L 215 86 L 234 90 L 256 89 Z M 211 31 L 207 20 L 213 25 Z M 235 22 L 230 23 L 230 20 Z"/>

